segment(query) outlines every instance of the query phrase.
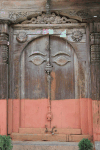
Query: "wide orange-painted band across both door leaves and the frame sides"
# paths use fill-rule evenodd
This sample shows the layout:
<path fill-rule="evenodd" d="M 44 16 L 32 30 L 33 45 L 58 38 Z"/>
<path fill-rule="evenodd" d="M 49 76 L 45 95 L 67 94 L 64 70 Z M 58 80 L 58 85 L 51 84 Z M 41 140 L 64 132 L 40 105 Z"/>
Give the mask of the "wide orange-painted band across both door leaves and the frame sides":
<path fill-rule="evenodd" d="M 8 133 L 18 132 L 22 128 L 50 127 L 46 119 L 48 99 L 18 99 L 8 101 Z M 67 99 L 52 100 L 53 119 L 51 127 L 82 129 L 82 134 L 93 134 L 92 100 Z"/>

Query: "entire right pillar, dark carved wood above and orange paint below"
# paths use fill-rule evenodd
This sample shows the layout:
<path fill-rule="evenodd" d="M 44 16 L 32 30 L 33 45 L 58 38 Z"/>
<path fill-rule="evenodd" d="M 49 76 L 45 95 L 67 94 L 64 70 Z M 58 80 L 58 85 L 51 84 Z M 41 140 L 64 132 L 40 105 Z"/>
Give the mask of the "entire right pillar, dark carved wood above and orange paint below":
<path fill-rule="evenodd" d="M 100 131 L 100 23 L 91 23 L 90 32 L 91 98 L 93 100 L 93 139 L 95 141 Z"/>

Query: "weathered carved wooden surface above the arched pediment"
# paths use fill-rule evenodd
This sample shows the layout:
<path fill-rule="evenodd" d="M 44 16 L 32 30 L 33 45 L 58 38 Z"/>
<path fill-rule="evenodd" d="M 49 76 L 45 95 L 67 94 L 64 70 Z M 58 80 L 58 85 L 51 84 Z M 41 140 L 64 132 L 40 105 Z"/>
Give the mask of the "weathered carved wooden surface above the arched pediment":
<path fill-rule="evenodd" d="M 51 0 L 51 11 L 62 12 L 67 16 L 74 16 L 91 21 L 93 16 L 100 16 L 100 0 Z M 3 0 L 0 1 L 0 18 L 16 20 L 27 17 L 34 12 L 46 11 L 46 0 Z"/>

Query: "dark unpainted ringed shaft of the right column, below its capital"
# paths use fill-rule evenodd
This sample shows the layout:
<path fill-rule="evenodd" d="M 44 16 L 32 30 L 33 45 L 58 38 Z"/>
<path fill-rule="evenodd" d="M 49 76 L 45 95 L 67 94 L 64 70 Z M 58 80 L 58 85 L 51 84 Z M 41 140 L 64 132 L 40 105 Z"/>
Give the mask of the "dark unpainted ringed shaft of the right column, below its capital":
<path fill-rule="evenodd" d="M 100 100 L 100 32 L 90 34 L 91 40 L 91 98 Z"/>

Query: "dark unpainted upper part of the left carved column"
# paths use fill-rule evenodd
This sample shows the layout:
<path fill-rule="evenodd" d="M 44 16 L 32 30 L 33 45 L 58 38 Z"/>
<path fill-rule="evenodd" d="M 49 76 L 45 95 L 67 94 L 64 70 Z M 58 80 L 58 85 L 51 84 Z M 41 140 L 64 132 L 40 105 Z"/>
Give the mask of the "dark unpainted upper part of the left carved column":
<path fill-rule="evenodd" d="M 0 24 L 0 99 L 8 98 L 8 24 Z"/>

